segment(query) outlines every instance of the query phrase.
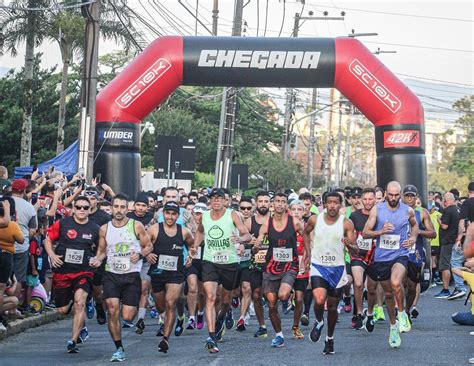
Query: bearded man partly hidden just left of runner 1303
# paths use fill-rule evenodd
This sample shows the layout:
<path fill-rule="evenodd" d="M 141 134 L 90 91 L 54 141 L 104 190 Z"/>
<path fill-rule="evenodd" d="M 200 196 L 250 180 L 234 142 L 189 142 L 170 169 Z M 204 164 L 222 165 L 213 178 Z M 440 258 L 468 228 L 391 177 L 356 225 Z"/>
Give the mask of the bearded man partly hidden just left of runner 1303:
<path fill-rule="evenodd" d="M 267 327 L 265 326 L 265 317 L 263 314 L 262 304 L 262 281 L 263 271 L 265 268 L 265 256 L 268 250 L 268 238 L 263 238 L 263 242 L 260 245 L 260 250 L 255 247 L 257 238 L 260 233 L 260 227 L 268 221 L 270 218 L 270 194 L 267 191 L 260 191 L 256 196 L 256 212 L 252 216 L 252 222 L 250 225 L 250 234 L 252 240 L 250 244 L 254 245 L 252 248 L 252 258 L 250 259 L 249 275 L 250 275 L 250 287 L 252 289 L 252 300 L 255 308 L 255 316 L 259 324 L 257 332 L 254 337 L 267 337 Z"/>

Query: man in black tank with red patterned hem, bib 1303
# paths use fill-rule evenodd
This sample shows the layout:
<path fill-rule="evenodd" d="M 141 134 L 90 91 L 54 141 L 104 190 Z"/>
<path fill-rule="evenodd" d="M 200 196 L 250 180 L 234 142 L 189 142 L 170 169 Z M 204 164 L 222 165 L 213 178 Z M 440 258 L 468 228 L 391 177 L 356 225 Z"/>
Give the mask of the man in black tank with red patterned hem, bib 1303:
<path fill-rule="evenodd" d="M 271 346 L 283 347 L 285 339 L 278 314 L 278 300 L 288 301 L 299 270 L 296 235 L 303 234 L 303 224 L 288 214 L 288 200 L 284 193 L 273 198 L 274 213 L 260 228 L 258 248 L 263 238 L 268 236 L 269 247 L 266 253 L 266 267 L 263 273 L 263 291 L 268 300 L 268 309 L 275 338 Z M 309 264 L 310 243 L 305 243 L 303 262 Z"/>

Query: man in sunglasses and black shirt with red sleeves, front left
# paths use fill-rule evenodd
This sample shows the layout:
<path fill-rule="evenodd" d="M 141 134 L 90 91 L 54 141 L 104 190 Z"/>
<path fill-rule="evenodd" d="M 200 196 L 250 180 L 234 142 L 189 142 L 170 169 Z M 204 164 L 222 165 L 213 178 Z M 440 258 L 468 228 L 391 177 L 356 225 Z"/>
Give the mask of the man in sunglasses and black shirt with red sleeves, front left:
<path fill-rule="evenodd" d="M 88 338 L 88 333 L 81 334 L 81 330 L 85 323 L 86 301 L 92 295 L 94 272 L 89 260 L 99 238 L 99 226 L 89 220 L 90 207 L 89 198 L 77 197 L 72 216 L 50 226 L 45 240 L 45 250 L 53 267 L 56 308 L 61 314 L 69 314 L 74 309 L 68 353 L 79 352 L 77 343 Z M 56 245 L 54 249 L 53 244 Z"/>

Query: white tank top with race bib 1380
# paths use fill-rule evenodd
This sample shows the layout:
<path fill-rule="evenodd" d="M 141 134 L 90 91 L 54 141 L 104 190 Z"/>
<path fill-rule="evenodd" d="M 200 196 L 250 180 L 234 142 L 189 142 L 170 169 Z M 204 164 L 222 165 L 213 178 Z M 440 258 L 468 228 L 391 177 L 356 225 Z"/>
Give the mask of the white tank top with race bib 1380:
<path fill-rule="evenodd" d="M 344 266 L 344 216 L 332 225 L 326 224 L 324 214 L 318 216 L 314 229 L 311 262 L 326 267 Z"/>

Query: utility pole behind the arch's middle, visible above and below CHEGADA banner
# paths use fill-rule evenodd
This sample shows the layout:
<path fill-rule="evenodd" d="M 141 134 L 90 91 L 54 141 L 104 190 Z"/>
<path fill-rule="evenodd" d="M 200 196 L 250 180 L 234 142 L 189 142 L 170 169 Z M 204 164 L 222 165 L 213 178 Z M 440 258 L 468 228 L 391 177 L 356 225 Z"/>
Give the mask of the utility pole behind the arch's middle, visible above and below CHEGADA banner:
<path fill-rule="evenodd" d="M 234 37 L 239 37 L 242 34 L 243 10 L 244 1 L 236 0 L 234 7 L 234 24 L 232 27 L 232 36 Z M 219 142 L 217 145 L 214 179 L 215 187 L 228 188 L 230 186 L 232 157 L 234 150 L 234 132 L 238 104 L 237 93 L 237 88 L 224 88 L 222 93 L 221 118 L 219 122 Z"/>

